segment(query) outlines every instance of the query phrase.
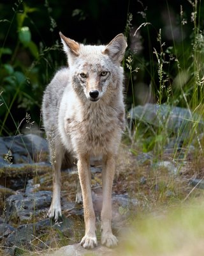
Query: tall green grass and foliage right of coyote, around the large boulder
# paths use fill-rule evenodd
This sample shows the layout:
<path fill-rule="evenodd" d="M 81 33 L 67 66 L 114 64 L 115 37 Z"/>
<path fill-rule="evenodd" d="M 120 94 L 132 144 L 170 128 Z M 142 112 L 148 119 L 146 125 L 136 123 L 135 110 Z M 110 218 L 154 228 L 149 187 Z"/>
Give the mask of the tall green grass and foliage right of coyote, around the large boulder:
<path fill-rule="evenodd" d="M 136 36 L 138 38 L 146 31 L 149 38 L 149 47 L 151 48 L 149 48 L 149 61 L 145 61 L 143 55 L 137 54 L 137 52 L 135 54 L 133 49 L 129 50 L 129 55 L 126 57 L 126 74 L 129 80 L 128 90 L 132 94 L 131 104 L 133 106 L 147 102 L 180 106 L 188 109 L 189 113 L 191 111 L 197 113 L 199 122 L 204 116 L 204 35 L 201 29 L 203 13 L 200 1 L 189 1 L 188 4 L 191 8 L 191 17 L 186 15 L 186 6 L 185 9 L 180 6 L 180 13 L 177 16 L 177 29 L 180 34 L 179 37 L 177 35 L 178 38 L 174 37 L 173 29 L 175 28 L 171 25 L 172 40 L 169 42 L 163 42 L 164 28 L 157 31 L 153 27 L 153 21 L 150 20 L 150 23 L 147 19 L 147 8 L 140 12 L 143 22 L 131 35 L 131 40 L 136 40 Z M 170 13 L 168 5 L 167 8 Z M 128 29 L 129 17 L 130 15 L 128 15 L 126 31 L 130 31 Z M 171 21 L 170 15 L 169 19 Z M 189 31 L 187 31 L 187 26 Z M 150 36 L 152 27 L 154 28 L 154 35 L 156 34 L 156 42 Z M 189 36 L 187 39 L 186 34 Z M 145 40 L 147 40 L 147 37 Z M 138 72 L 135 72 L 133 76 L 132 70 Z M 145 78 L 147 75 L 149 76 L 148 80 Z M 142 86 L 140 83 L 142 83 Z M 146 86 L 145 83 L 147 83 Z M 186 145 L 191 145 L 194 136 L 198 137 L 197 124 L 195 122 Z M 144 124 L 141 125 L 140 122 L 135 122 L 134 127 L 135 141 L 137 144 L 142 142 L 143 152 L 154 150 L 158 156 L 162 156 L 164 146 L 168 143 L 169 138 L 175 136 L 172 132 L 166 131 L 165 120 L 163 120 L 163 126 L 152 127 L 152 125 L 146 124 L 145 128 Z M 133 132 L 131 133 L 131 140 L 133 141 L 132 135 Z"/>

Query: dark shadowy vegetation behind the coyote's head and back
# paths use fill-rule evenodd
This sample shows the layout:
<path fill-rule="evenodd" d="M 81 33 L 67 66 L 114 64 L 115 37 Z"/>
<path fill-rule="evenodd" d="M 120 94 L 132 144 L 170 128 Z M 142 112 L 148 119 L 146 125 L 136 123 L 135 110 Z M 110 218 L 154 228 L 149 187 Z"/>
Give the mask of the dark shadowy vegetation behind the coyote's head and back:
<path fill-rule="evenodd" d="M 191 22 L 193 6 L 190 1 L 137 1 L 137 0 L 50 0 L 8 1 L 0 3 L 0 135 L 15 134 L 24 126 L 26 113 L 41 126 L 40 107 L 43 90 L 54 72 L 66 65 L 61 51 L 59 31 L 85 44 L 106 44 L 118 33 L 128 37 L 126 58 L 131 54 L 133 88 L 153 86 L 157 90 L 157 60 L 154 48 L 159 52 L 157 40 L 161 29 L 165 51 L 180 58 L 180 65 L 189 67 L 192 51 L 194 24 Z M 184 12 L 180 16 L 180 6 Z M 204 6 L 198 1 L 199 26 L 203 28 Z M 131 13 L 131 15 L 129 15 Z M 182 18 L 187 24 L 182 26 Z M 150 22 L 145 26 L 146 22 Z M 136 36 L 133 36 L 136 29 Z M 29 31 L 26 31 L 28 28 Z M 169 58 L 169 57 L 168 57 Z M 164 63 L 168 72 L 168 85 L 177 74 L 175 64 Z M 133 103 L 131 77 L 126 61 L 127 108 Z M 165 66 L 166 65 L 166 66 Z M 144 87 L 143 87 L 144 86 Z M 153 93 L 150 102 L 156 102 Z M 165 96 L 163 101 L 165 101 Z M 136 100 L 135 104 L 142 104 Z"/>

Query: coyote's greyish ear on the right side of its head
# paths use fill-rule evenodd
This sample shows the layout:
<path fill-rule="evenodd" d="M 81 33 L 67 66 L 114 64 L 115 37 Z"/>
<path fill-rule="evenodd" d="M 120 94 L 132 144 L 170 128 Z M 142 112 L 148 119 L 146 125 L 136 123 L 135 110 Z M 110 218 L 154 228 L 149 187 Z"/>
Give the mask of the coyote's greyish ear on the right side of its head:
<path fill-rule="evenodd" d="M 119 34 L 106 46 L 103 54 L 108 54 L 113 61 L 120 63 L 126 51 L 127 42 L 124 35 Z"/>

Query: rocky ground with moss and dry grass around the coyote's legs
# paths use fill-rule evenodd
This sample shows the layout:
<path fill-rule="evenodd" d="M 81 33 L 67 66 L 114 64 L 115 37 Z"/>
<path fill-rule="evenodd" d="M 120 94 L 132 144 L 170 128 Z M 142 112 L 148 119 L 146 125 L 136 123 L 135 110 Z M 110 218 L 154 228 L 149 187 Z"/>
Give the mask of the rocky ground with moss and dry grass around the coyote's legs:
<path fill-rule="evenodd" d="M 113 231 L 119 239 L 138 214 L 154 212 L 161 206 L 166 209 L 169 205 L 180 204 L 192 195 L 199 196 L 200 189 L 197 188 L 204 188 L 202 155 L 194 157 L 198 143 L 194 140 L 187 148 L 183 143 L 187 136 L 186 129 L 192 129 L 192 125 L 185 121 L 185 126 L 180 116 L 188 115 L 188 111 L 173 109 L 172 116 L 175 118 L 170 118 L 164 107 L 162 111 L 160 109 L 163 117 L 156 122 L 157 115 L 154 113 L 157 109 L 148 104 L 147 108 L 132 109 L 131 118 L 140 118 L 140 121 L 143 118 L 143 122 L 150 122 L 151 125 L 161 124 L 161 120 L 164 122 L 168 118 L 167 129 L 180 132 L 180 140 L 176 136 L 168 140 L 162 157 L 156 156 L 153 151 L 143 152 L 145 150 L 131 144 L 130 139 L 121 145 L 112 194 Z M 190 117 L 184 119 L 189 120 Z M 200 121 L 198 129 L 202 129 L 202 125 Z M 201 132 L 199 140 L 202 143 Z M 102 200 L 99 160 L 92 161 L 91 173 L 99 240 Z M 75 203 L 78 186 L 76 168 L 62 172 L 62 219 L 55 223 L 47 218 L 52 199 L 52 166 L 44 138 L 36 134 L 0 138 L 0 178 L 0 255 L 31 252 L 41 255 L 47 251 L 50 254 L 55 248 L 61 248 L 61 251 L 54 255 L 84 255 L 87 252 L 78 245 L 84 236 L 84 221 L 82 204 Z M 113 253 L 112 249 L 99 245 L 92 255 Z"/>

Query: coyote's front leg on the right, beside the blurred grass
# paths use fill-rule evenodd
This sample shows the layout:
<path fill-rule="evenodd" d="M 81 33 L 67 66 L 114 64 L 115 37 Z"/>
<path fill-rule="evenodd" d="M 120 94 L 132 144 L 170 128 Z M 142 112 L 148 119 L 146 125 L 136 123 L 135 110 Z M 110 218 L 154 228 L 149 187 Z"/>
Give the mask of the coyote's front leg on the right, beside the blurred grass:
<path fill-rule="evenodd" d="M 115 156 L 108 154 L 103 157 L 103 207 L 101 211 L 101 243 L 108 247 L 117 245 L 117 238 L 113 236 L 112 221 L 112 185 L 115 173 Z"/>

